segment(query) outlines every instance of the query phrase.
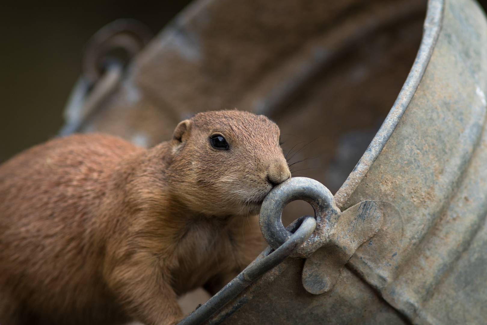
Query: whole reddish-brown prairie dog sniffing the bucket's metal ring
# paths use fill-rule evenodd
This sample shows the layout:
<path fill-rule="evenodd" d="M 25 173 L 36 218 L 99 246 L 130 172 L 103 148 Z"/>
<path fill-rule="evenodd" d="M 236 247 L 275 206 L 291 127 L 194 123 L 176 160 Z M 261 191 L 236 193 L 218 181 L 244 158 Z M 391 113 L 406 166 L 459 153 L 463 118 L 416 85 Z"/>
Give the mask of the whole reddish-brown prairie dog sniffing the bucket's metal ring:
<path fill-rule="evenodd" d="M 262 115 L 206 112 L 143 150 L 77 134 L 0 166 L 0 324 L 175 324 L 263 249 L 256 213 L 291 176 Z"/>

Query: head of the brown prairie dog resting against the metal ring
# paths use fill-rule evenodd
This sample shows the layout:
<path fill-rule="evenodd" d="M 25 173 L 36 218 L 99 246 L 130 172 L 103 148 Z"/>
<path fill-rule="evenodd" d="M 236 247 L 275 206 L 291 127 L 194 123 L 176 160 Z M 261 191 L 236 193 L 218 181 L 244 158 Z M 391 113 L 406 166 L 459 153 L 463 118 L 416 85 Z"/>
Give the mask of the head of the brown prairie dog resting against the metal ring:
<path fill-rule="evenodd" d="M 291 177 L 279 136 L 263 115 L 199 113 L 174 131 L 169 186 L 197 212 L 258 213 L 267 193 Z"/>

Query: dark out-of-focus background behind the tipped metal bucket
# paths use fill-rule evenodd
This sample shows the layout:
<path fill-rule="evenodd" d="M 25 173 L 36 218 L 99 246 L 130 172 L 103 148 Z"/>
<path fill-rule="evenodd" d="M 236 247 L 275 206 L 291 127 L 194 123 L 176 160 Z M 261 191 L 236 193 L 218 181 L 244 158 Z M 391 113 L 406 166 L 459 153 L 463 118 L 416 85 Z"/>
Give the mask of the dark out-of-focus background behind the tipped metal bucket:
<path fill-rule="evenodd" d="M 189 2 L 0 1 L 0 162 L 58 132 L 83 45 L 99 28 L 133 18 L 156 34 Z"/>

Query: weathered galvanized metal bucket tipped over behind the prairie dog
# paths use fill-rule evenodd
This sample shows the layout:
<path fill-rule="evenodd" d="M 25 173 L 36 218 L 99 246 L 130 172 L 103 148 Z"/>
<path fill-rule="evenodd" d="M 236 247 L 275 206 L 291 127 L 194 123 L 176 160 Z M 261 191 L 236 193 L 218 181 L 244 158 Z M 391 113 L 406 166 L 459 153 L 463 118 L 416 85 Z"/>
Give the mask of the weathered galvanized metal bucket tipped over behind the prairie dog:
<path fill-rule="evenodd" d="M 326 292 L 308 292 L 309 263 L 290 258 L 209 324 L 485 323 L 487 24 L 471 0 L 430 0 L 420 38 L 425 5 L 196 1 L 83 122 L 84 132 L 150 146 L 198 111 L 266 114 L 293 134 L 289 147 L 321 136 L 294 159 L 319 155 L 302 163 L 319 168 L 304 175 L 337 190 L 343 213 L 377 205 L 380 229 L 341 261 Z M 345 180 L 358 159 L 347 149 L 367 137 Z"/>

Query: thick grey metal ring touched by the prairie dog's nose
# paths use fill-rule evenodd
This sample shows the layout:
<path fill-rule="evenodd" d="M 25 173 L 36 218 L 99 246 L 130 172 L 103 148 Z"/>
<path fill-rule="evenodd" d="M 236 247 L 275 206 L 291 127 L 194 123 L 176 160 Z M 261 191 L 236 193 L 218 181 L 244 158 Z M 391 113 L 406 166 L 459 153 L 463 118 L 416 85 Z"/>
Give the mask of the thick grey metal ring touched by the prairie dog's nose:
<path fill-rule="evenodd" d="M 328 240 L 340 210 L 335 204 L 332 193 L 317 180 L 293 177 L 282 182 L 265 197 L 259 217 L 262 235 L 273 249 L 280 247 L 292 235 L 282 225 L 281 214 L 288 203 L 296 200 L 308 202 L 315 210 L 317 222 L 315 231 L 292 255 L 308 257 Z"/>

